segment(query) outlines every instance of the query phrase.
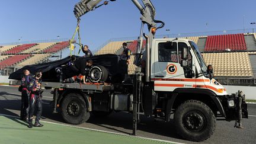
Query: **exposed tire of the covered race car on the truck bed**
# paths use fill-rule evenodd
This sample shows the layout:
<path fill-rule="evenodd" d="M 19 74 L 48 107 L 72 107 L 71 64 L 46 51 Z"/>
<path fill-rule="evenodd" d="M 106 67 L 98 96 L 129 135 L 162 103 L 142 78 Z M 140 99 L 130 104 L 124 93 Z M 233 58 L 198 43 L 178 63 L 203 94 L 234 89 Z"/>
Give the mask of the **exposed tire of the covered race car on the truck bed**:
<path fill-rule="evenodd" d="M 88 78 L 91 82 L 105 82 L 108 78 L 108 71 L 104 66 L 92 66 Z"/>

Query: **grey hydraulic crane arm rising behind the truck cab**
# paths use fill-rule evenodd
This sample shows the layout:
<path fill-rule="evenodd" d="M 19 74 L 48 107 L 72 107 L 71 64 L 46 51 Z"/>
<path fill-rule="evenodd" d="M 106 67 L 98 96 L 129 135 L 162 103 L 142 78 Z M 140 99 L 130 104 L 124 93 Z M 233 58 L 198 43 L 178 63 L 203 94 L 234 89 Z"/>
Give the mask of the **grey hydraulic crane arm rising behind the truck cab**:
<path fill-rule="evenodd" d="M 92 11 L 98 7 L 101 7 L 102 5 L 107 5 L 109 1 L 104 1 L 103 4 L 98 5 L 102 0 L 82 0 L 78 2 L 78 4 L 75 5 L 74 8 L 74 14 L 75 17 L 80 20 L 80 17 L 84 14 L 86 14 L 89 11 Z M 110 0 L 110 1 L 116 1 L 116 0 Z M 141 0 L 143 5 L 140 4 L 139 0 L 131 0 L 133 4 L 136 5 L 136 7 L 139 9 L 140 14 L 142 16 L 140 17 L 140 20 L 142 21 L 142 25 L 140 28 L 140 36 L 137 40 L 137 49 L 135 53 L 135 62 L 134 64 L 139 66 L 140 65 L 140 59 L 142 55 L 142 43 L 143 43 L 143 25 L 148 25 L 149 33 L 148 35 L 144 34 L 144 37 L 146 38 L 146 82 L 149 82 L 150 79 L 150 49 L 152 47 L 152 40 L 155 37 L 155 32 L 158 28 L 164 27 L 164 22 L 155 20 L 155 8 L 153 7 L 153 4 L 151 3 L 151 0 Z M 97 6 L 98 5 L 98 6 Z M 156 28 L 156 24 L 161 23 L 159 27 Z"/>

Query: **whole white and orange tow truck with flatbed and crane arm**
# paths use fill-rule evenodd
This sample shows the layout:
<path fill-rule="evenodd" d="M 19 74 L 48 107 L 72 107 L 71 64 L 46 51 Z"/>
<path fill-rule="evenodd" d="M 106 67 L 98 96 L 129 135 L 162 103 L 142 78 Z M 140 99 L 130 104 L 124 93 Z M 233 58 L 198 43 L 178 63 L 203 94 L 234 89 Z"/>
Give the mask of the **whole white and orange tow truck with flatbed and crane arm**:
<path fill-rule="evenodd" d="M 228 95 L 223 85 L 208 75 L 206 63 L 194 41 L 155 39 L 156 31 L 164 27 L 164 23 L 155 20 L 152 2 L 131 1 L 139 9 L 142 21 L 135 64 L 140 63 L 144 37 L 145 71 L 138 67 L 135 74 L 130 75 L 132 81 L 120 84 L 43 82 L 44 87 L 54 89 L 53 111 L 60 110 L 63 119 L 70 124 L 84 123 L 91 113 L 103 116 L 111 111 L 127 111 L 133 114 L 133 135 L 137 135 L 140 114 L 166 122 L 174 115 L 177 133 L 196 142 L 213 135 L 216 117 L 235 120 L 236 127 L 241 128 L 241 119 L 248 118 L 243 92 Z M 98 5 L 100 2 L 79 1 L 74 8 L 75 17 L 79 20 L 82 15 L 110 1 Z M 156 27 L 157 24 L 161 25 Z M 148 34 L 143 33 L 144 25 Z"/>

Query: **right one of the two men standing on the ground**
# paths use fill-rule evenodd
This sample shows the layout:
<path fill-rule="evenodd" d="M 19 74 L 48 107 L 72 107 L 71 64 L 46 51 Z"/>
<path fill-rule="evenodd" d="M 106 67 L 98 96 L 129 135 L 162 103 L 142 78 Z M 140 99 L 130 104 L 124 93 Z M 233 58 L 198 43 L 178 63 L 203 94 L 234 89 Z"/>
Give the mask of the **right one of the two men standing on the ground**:
<path fill-rule="evenodd" d="M 41 89 L 41 72 L 36 72 L 33 79 L 31 79 L 30 84 L 28 86 L 28 90 L 31 91 L 30 94 L 30 110 L 28 117 L 28 128 L 33 127 L 33 114 L 34 108 L 37 107 L 36 112 L 36 122 L 34 123 L 34 127 L 42 127 L 43 124 L 39 123 L 41 118 L 41 113 L 43 110 L 42 101 L 41 101 L 41 93 L 43 90 Z"/>

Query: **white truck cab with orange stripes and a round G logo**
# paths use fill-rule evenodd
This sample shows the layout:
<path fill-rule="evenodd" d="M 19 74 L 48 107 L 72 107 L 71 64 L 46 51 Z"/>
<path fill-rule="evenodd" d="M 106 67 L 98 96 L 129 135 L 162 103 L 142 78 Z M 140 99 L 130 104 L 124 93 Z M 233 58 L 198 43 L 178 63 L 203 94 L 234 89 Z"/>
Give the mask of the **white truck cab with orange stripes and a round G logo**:
<path fill-rule="evenodd" d="M 208 78 L 206 63 L 194 41 L 153 39 L 152 47 L 154 48 L 151 49 L 151 81 L 154 83 L 155 91 L 203 88 L 210 89 L 216 95 L 227 95 L 219 82 Z M 183 49 L 187 49 L 186 57 L 182 56 Z"/>

